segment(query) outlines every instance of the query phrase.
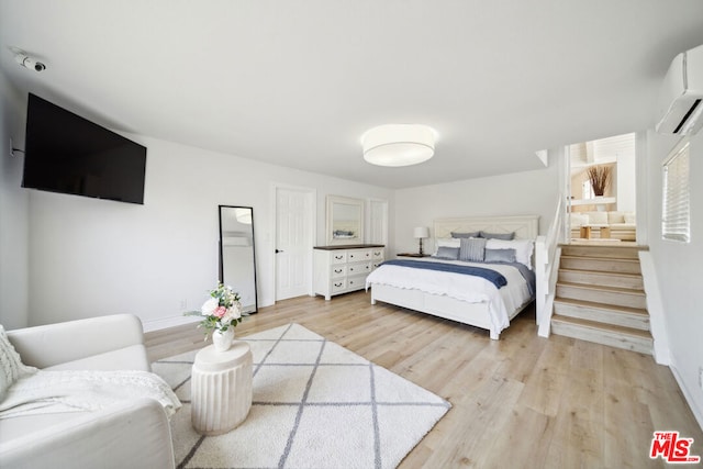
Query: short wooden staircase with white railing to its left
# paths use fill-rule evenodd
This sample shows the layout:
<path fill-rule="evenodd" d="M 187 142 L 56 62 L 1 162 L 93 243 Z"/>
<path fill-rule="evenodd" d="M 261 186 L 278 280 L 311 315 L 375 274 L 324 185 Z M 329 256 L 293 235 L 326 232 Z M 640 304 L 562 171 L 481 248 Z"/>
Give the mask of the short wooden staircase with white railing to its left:
<path fill-rule="evenodd" d="M 561 246 L 551 333 L 652 354 L 641 246 Z"/>

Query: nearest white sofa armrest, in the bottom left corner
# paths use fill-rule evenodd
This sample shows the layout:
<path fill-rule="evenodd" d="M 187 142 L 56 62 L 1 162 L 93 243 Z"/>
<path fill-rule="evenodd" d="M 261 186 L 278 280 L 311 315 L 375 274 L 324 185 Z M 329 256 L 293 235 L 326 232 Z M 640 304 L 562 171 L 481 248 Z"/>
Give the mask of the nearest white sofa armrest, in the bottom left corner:
<path fill-rule="evenodd" d="M 1 424 L 2 422 L 0 422 Z M 174 468 L 171 433 L 152 399 L 123 402 L 0 443 L 2 468 Z"/>

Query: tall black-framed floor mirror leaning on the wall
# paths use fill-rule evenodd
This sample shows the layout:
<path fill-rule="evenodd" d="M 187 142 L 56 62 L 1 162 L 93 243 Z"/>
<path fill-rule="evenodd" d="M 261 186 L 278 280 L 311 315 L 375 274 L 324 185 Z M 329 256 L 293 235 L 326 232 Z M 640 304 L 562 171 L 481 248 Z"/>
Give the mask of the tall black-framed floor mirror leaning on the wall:
<path fill-rule="evenodd" d="M 236 205 L 219 209 L 220 281 L 239 293 L 242 312 L 254 314 L 257 311 L 254 209 Z"/>

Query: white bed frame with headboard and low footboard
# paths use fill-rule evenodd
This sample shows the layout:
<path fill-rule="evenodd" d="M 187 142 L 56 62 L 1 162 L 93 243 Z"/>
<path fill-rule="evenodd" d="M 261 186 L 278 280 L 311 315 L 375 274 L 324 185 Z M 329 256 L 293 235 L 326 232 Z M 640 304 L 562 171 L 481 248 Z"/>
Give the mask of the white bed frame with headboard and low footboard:
<path fill-rule="evenodd" d="M 434 222 L 435 239 L 451 237 L 451 232 L 468 233 L 481 230 L 489 233 L 515 232 L 516 239 L 535 239 L 539 232 L 539 216 L 470 216 L 437 219 Z M 537 282 L 539 280 L 537 279 Z M 402 289 L 380 283 L 371 286 L 371 304 L 376 304 L 377 301 L 489 330 L 490 336 L 494 340 L 498 340 L 500 336 L 500 332 L 492 328 L 488 303 L 469 303 L 422 290 Z M 515 311 L 509 311 L 509 317 L 511 320 L 515 317 L 531 302 L 526 302 Z"/>

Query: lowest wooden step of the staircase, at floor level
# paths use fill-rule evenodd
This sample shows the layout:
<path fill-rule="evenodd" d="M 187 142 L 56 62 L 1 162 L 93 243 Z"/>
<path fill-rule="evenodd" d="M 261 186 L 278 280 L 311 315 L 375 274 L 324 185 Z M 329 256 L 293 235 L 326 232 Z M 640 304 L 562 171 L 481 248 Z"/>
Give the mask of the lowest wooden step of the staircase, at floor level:
<path fill-rule="evenodd" d="M 629 327 L 604 324 L 595 321 L 554 315 L 551 332 L 595 344 L 607 345 L 625 350 L 651 355 L 654 340 L 651 334 Z"/>

